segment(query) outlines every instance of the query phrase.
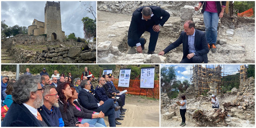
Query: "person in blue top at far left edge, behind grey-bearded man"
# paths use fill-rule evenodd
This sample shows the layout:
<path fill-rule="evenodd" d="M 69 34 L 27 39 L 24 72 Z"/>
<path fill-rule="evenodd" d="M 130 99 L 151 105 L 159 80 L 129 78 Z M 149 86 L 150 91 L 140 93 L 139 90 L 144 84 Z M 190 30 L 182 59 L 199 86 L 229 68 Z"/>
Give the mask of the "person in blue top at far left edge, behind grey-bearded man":
<path fill-rule="evenodd" d="M 7 105 L 8 107 L 11 106 L 11 104 L 13 103 L 13 97 L 12 97 L 12 91 L 13 91 L 13 85 L 15 83 L 15 80 L 14 79 L 11 79 L 8 84 L 7 84 L 7 87 L 6 87 L 6 99 L 3 103 L 3 105 Z"/>

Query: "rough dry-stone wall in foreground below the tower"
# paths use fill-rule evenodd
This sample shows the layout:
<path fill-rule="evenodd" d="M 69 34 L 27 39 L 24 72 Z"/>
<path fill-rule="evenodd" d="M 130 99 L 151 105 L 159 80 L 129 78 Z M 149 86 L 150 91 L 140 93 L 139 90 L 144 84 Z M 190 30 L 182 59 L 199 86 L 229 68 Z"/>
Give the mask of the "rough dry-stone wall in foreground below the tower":
<path fill-rule="evenodd" d="M 94 63 L 96 61 L 96 42 L 84 46 L 48 47 L 42 53 L 13 48 L 14 63 Z"/>

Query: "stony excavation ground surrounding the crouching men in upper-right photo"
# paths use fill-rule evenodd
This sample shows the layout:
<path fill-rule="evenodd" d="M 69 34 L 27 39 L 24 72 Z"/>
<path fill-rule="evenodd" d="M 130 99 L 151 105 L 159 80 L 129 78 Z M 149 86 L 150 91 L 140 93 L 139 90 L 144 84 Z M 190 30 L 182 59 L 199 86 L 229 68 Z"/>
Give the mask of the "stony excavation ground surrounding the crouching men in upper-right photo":
<path fill-rule="evenodd" d="M 193 20 L 196 29 L 204 31 L 203 15 L 194 11 L 198 2 L 97 2 L 98 63 L 179 63 L 182 46 L 164 56 L 157 54 L 176 41 L 183 23 Z M 161 28 L 155 53 L 148 55 L 148 43 L 143 54 L 127 45 L 132 13 L 142 6 L 160 6 L 171 15 Z M 143 37 L 149 42 L 149 33 Z M 224 14 L 218 26 L 217 51 L 208 53 L 208 63 L 254 63 L 254 18 Z"/>

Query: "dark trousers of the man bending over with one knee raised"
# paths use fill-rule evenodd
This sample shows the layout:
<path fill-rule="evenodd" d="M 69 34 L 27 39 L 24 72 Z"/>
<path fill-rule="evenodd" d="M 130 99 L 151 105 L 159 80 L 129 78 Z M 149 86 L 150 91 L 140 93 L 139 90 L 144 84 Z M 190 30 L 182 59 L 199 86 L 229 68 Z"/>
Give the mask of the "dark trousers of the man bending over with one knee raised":
<path fill-rule="evenodd" d="M 150 43 L 149 43 L 149 51 L 155 51 L 156 45 L 157 45 L 157 40 L 158 40 L 158 35 L 160 33 L 159 32 L 154 32 L 153 30 L 153 26 L 147 28 L 146 30 L 147 32 L 150 33 Z M 144 34 L 145 31 L 138 31 L 138 36 L 141 37 L 142 34 Z M 140 43 L 141 45 L 144 45 L 144 38 L 140 38 Z M 135 42 L 132 38 L 128 39 L 128 45 L 130 47 L 134 47 L 136 46 L 137 42 Z"/>

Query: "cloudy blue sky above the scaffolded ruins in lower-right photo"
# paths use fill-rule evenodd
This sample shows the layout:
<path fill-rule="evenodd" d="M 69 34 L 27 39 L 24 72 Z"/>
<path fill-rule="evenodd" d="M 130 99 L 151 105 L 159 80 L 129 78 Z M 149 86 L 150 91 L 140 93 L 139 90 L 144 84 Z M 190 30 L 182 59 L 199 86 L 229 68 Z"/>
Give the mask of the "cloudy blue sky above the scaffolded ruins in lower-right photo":
<path fill-rule="evenodd" d="M 204 64 L 202 64 L 203 67 L 205 67 Z M 184 81 L 184 80 L 188 80 L 190 81 L 191 75 L 190 75 L 190 69 L 193 69 L 193 65 L 161 65 L 161 68 L 165 66 L 165 67 L 170 67 L 170 66 L 174 66 L 175 68 L 175 73 L 176 73 L 176 77 L 178 80 L 180 81 Z M 213 66 L 217 66 L 217 65 L 207 65 L 207 67 L 212 68 Z M 224 75 L 231 75 L 236 73 L 239 69 L 240 70 L 240 65 L 231 65 L 231 64 L 225 64 L 224 66 L 221 65 L 222 67 L 222 72 L 223 72 L 223 67 L 224 67 Z M 237 69 L 236 69 L 237 68 Z M 193 70 L 191 71 L 191 73 L 193 74 Z M 223 74 L 221 74 L 223 75 Z"/>

